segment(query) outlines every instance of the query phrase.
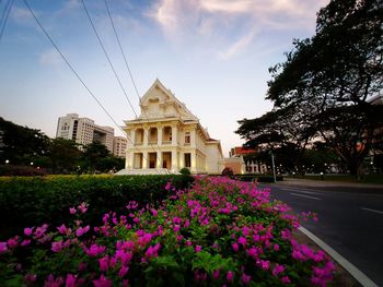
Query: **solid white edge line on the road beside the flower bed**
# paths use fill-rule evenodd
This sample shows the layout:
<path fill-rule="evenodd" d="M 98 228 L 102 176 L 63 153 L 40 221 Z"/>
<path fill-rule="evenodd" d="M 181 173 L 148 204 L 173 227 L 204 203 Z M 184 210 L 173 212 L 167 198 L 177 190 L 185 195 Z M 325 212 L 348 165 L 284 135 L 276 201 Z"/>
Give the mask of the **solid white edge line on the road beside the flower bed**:
<path fill-rule="evenodd" d="M 341 265 L 345 270 L 347 270 L 353 278 L 356 278 L 362 286 L 365 287 L 378 287 L 378 285 L 371 280 L 364 273 L 358 270 L 351 262 L 347 261 L 343 255 L 327 246 L 322 239 L 316 237 L 314 234 L 305 229 L 304 227 L 300 227 L 303 234 L 305 234 L 311 240 L 313 240 L 316 244 L 320 246 L 328 255 L 330 255 L 339 265 Z"/>

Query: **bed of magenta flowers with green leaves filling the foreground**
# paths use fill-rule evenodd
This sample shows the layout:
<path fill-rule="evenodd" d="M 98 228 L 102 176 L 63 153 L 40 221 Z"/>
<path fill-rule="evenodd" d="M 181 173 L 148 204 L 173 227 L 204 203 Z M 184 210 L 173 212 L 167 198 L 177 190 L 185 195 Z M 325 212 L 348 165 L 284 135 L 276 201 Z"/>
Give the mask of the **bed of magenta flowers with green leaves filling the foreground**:
<path fill-rule="evenodd" d="M 170 184 L 166 190 L 173 190 Z M 0 242 L 0 285 L 325 286 L 334 264 L 291 236 L 299 218 L 268 190 L 228 178 L 199 178 L 161 207 L 107 213 L 103 225 L 24 229 Z M 304 214 L 304 217 L 312 214 Z"/>

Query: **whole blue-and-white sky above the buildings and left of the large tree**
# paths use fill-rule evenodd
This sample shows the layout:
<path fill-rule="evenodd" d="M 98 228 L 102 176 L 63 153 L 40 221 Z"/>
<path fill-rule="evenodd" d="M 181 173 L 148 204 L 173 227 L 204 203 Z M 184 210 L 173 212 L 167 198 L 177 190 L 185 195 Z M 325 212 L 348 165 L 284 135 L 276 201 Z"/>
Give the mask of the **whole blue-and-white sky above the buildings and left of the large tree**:
<path fill-rule="evenodd" d="M 0 0 L 0 20 L 10 0 Z M 113 32 L 105 0 L 26 0 L 68 62 L 118 125 L 140 113 L 139 99 Z M 159 79 L 199 118 L 224 156 L 244 143 L 237 121 L 272 108 L 265 99 L 270 67 L 295 38 L 315 33 L 328 0 L 106 0 L 139 95 Z M 0 39 L 0 117 L 55 137 L 67 113 L 123 132 L 14 0 Z"/>

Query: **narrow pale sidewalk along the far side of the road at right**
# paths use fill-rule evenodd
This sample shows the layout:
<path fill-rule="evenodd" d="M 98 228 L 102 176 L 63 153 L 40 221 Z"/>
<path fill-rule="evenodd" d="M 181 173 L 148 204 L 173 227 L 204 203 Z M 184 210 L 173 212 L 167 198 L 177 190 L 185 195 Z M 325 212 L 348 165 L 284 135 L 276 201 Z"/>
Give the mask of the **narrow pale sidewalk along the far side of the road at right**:
<path fill-rule="evenodd" d="M 278 186 L 291 187 L 311 187 L 311 188 L 363 188 L 363 189 L 380 189 L 383 192 L 383 184 L 357 183 L 357 182 L 339 182 L 326 180 L 283 178 L 282 181 L 277 181 Z"/>

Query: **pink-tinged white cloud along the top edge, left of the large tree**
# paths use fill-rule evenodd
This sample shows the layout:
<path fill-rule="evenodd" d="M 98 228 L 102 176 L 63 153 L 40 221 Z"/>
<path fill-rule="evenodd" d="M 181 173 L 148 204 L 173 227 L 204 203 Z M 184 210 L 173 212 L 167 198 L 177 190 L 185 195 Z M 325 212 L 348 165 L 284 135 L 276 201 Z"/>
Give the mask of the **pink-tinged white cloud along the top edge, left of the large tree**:
<path fill-rule="evenodd" d="M 328 0 L 156 0 L 148 15 L 171 40 L 205 37 L 230 59 L 254 44 L 257 33 L 314 31 Z M 239 37 L 239 35 L 242 35 Z M 186 36 L 186 37 L 185 37 Z"/>

